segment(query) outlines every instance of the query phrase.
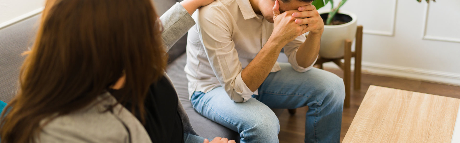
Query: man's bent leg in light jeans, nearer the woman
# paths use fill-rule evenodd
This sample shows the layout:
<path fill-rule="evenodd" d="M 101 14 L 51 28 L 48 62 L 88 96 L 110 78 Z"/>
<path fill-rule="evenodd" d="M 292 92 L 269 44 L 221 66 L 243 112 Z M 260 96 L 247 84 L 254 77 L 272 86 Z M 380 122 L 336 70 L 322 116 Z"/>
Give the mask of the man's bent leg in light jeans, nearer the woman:
<path fill-rule="evenodd" d="M 236 103 L 224 88 L 208 93 L 195 92 L 190 99 L 201 115 L 238 132 L 241 143 L 278 143 L 280 125 L 275 113 L 260 101 L 251 98 Z"/>

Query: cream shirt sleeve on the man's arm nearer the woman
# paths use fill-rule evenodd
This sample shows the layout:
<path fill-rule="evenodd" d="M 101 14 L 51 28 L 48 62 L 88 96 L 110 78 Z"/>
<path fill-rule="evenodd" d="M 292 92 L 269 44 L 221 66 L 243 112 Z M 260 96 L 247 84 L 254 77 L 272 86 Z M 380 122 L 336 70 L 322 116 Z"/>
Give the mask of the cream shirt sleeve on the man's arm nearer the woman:
<path fill-rule="evenodd" d="M 226 19 L 231 16 L 218 6 L 204 7 L 199 13 L 200 38 L 214 74 L 230 99 L 246 102 L 253 92 L 241 77 L 242 64 L 231 36 L 232 22 Z"/>

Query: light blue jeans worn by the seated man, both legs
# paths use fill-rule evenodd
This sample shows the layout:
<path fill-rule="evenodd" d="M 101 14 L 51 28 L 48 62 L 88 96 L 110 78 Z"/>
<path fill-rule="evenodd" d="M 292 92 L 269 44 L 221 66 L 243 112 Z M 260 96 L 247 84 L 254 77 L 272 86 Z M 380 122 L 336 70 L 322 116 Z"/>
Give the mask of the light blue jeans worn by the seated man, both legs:
<path fill-rule="evenodd" d="M 224 88 L 195 92 L 193 108 L 201 115 L 238 132 L 241 143 L 278 143 L 280 125 L 270 108 L 308 106 L 305 143 L 339 143 L 345 85 L 337 75 L 313 68 L 299 73 L 290 64 L 268 75 L 259 95 L 244 103 L 233 102 Z"/>

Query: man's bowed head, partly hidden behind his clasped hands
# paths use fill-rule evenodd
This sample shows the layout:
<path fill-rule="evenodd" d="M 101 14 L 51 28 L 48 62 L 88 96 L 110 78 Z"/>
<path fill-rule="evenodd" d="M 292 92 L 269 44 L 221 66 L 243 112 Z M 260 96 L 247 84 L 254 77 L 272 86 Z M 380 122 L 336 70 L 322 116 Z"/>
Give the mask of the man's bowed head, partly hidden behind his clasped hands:
<path fill-rule="evenodd" d="M 300 6 L 311 5 L 313 0 L 278 0 L 280 2 L 280 12 L 297 10 Z M 273 6 L 275 6 L 275 0 L 258 0 L 258 7 L 262 16 L 267 19 L 268 22 L 273 23 Z"/>

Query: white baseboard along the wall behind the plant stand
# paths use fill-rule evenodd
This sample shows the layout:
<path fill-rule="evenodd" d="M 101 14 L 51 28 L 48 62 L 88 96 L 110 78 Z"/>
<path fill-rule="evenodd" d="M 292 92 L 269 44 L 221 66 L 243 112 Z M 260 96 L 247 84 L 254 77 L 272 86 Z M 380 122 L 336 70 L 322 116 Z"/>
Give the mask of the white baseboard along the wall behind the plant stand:
<path fill-rule="evenodd" d="M 351 65 L 351 70 L 354 70 L 354 63 L 352 62 Z M 339 67 L 333 62 L 325 63 L 323 66 L 326 68 L 339 69 Z M 374 75 L 400 77 L 460 86 L 460 74 L 458 73 L 385 65 L 371 62 L 362 62 L 361 67 L 362 72 L 367 72 Z"/>

